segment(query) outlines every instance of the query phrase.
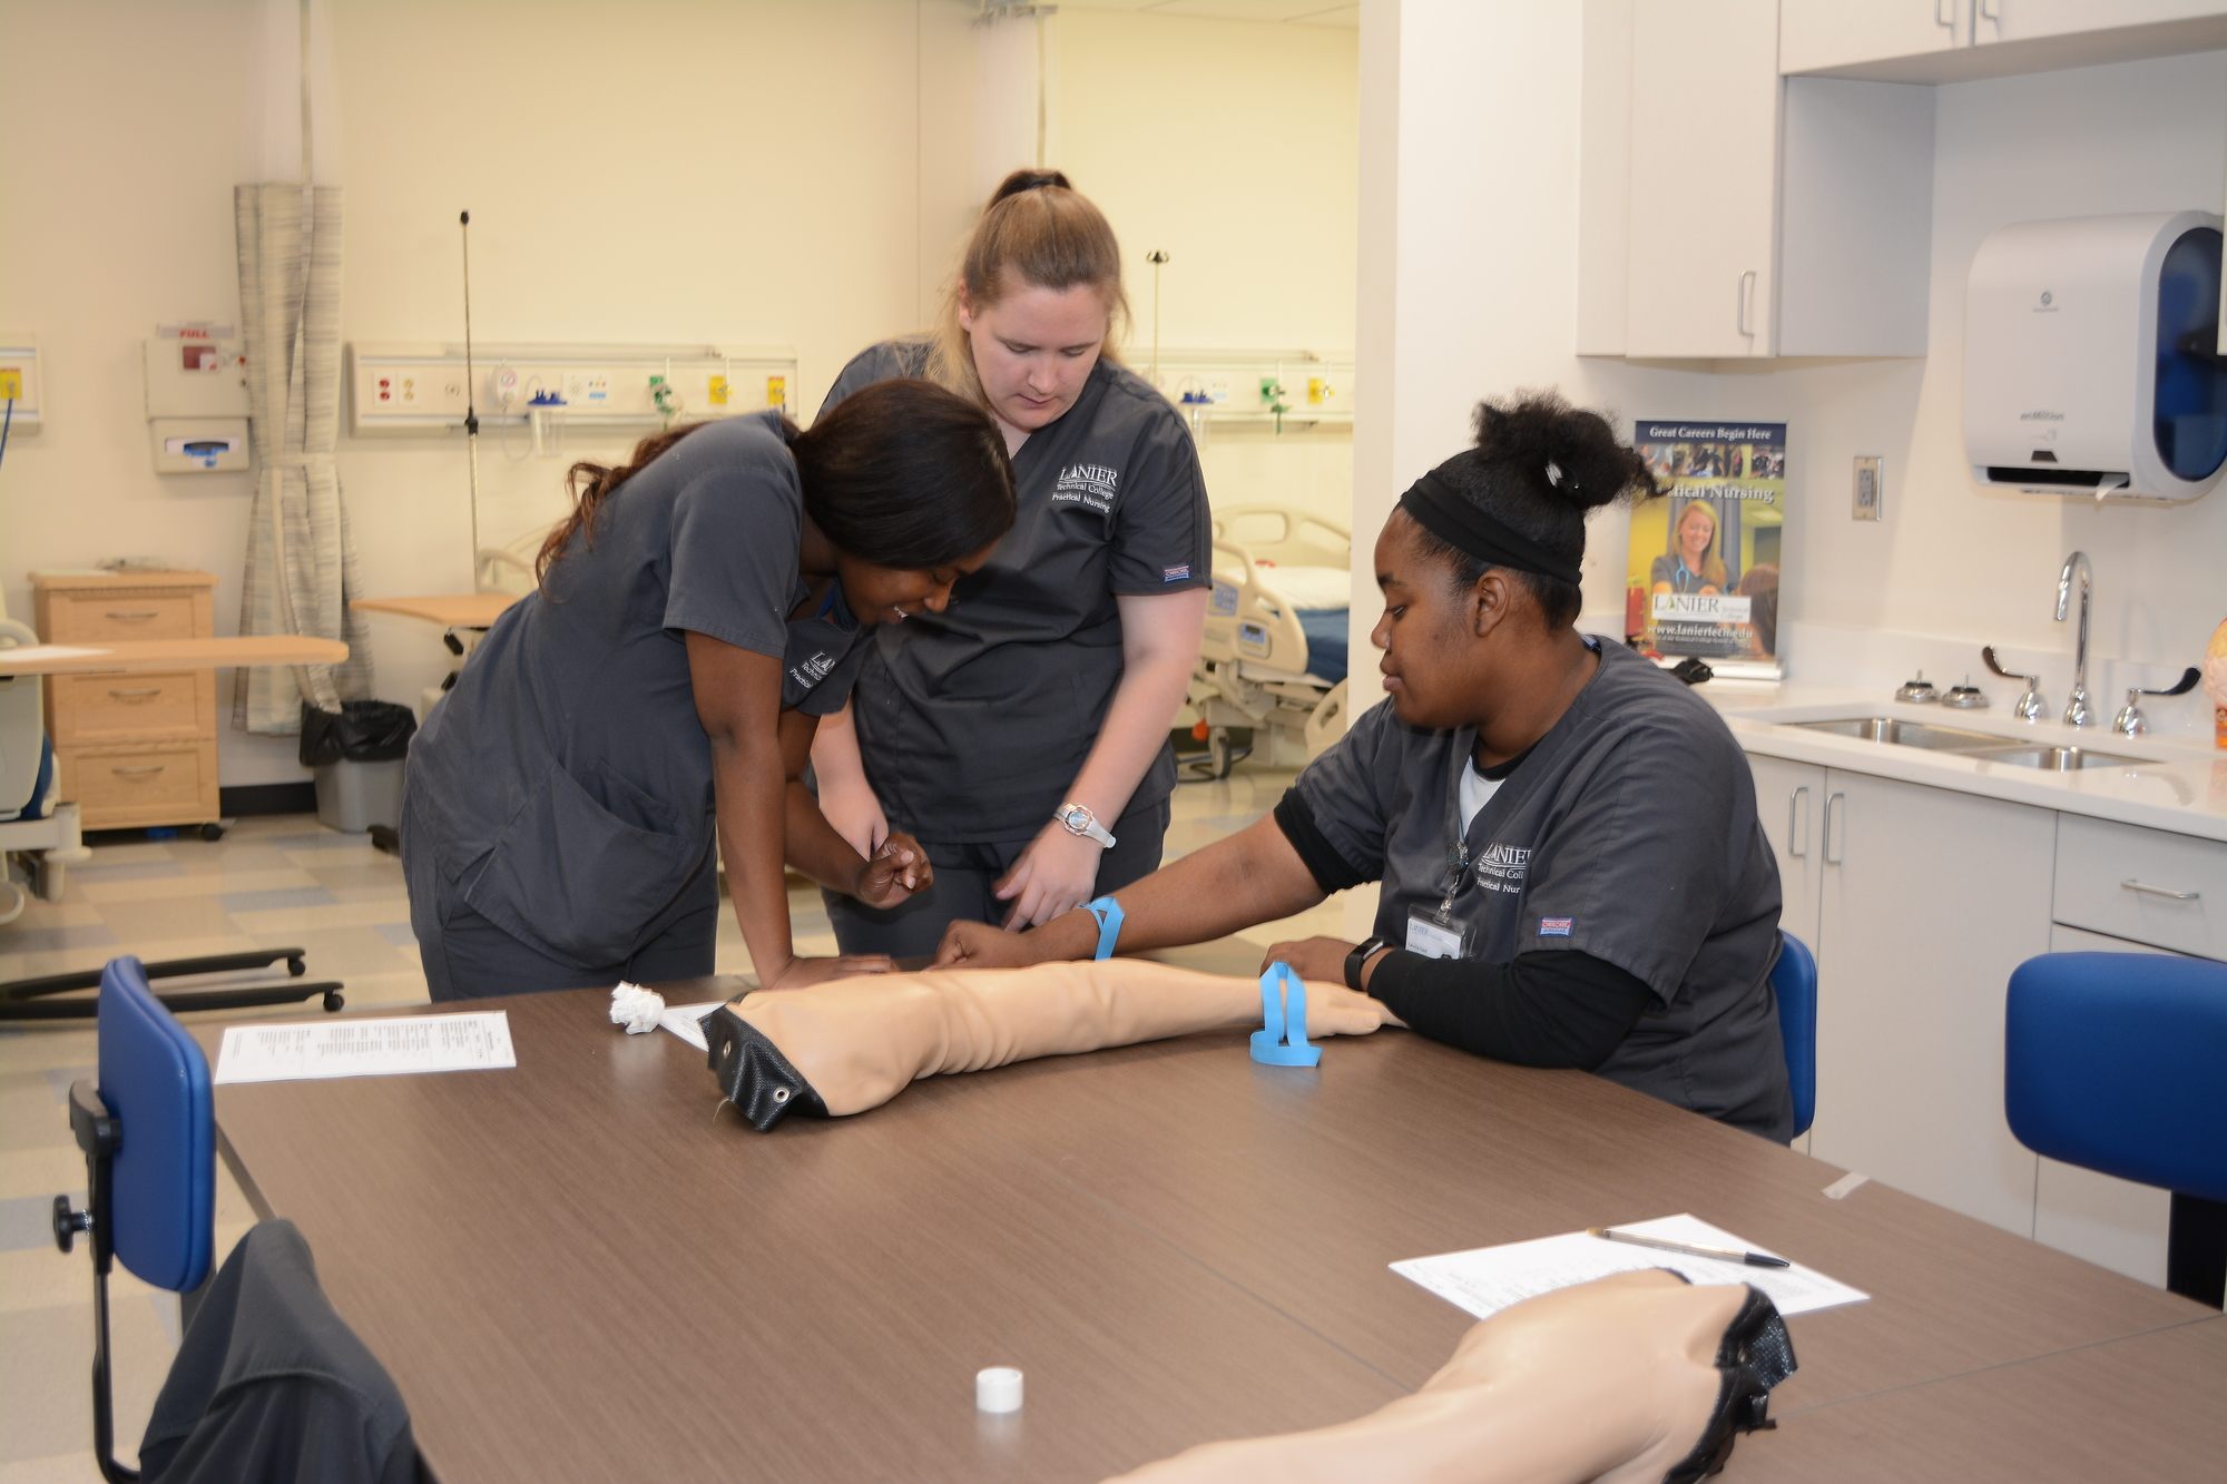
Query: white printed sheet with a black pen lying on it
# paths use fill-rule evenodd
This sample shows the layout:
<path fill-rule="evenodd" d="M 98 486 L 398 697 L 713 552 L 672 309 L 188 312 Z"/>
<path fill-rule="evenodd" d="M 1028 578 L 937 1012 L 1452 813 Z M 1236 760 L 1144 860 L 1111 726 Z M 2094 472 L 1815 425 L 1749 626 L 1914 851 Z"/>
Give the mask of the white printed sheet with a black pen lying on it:
<path fill-rule="evenodd" d="M 1668 1237 L 1670 1241 L 1704 1248 L 1742 1248 L 1784 1257 L 1784 1252 L 1759 1248 L 1697 1217 L 1617 1223 L 1615 1230 L 1641 1237 Z M 1746 1263 L 1717 1261 L 1715 1257 L 1635 1248 L 1586 1232 L 1563 1232 L 1561 1237 L 1539 1237 L 1537 1241 L 1512 1241 L 1499 1248 L 1412 1257 L 1403 1263 L 1392 1263 L 1392 1272 L 1421 1283 L 1479 1319 L 1488 1319 L 1510 1304 L 1534 1299 L 1554 1288 L 1590 1283 L 1597 1277 L 1630 1272 L 1635 1268 L 1670 1268 L 1695 1283 L 1755 1283 L 1770 1295 L 1782 1315 L 1806 1315 L 1813 1308 L 1862 1304 L 1871 1297 L 1802 1263 L 1793 1268 L 1748 1268 Z"/>

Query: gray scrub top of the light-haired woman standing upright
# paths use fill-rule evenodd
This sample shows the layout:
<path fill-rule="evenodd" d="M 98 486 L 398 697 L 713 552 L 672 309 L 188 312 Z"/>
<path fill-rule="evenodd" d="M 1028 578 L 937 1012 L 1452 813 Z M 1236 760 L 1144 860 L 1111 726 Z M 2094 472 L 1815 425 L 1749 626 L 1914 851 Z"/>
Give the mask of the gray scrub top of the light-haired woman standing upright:
<path fill-rule="evenodd" d="M 822 406 L 918 377 L 924 341 L 860 352 Z M 1051 820 L 1122 675 L 1116 597 L 1211 579 L 1207 486 L 1183 417 L 1100 359 L 1076 406 L 1013 455 L 1020 510 L 951 611 L 884 624 L 853 695 L 860 755 L 897 829 L 1027 840 Z M 1127 809 L 1176 787 L 1160 749 Z"/>

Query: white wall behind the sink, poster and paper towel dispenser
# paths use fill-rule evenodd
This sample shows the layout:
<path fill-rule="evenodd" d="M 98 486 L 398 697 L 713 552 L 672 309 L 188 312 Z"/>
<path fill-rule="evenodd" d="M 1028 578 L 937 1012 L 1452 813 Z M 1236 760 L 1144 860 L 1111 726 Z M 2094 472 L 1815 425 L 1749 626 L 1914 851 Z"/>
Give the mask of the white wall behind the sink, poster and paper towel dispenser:
<path fill-rule="evenodd" d="M 1980 671 L 1978 646 L 2038 662 L 2062 704 L 2069 626 L 2058 566 L 2096 564 L 2089 684 L 2194 664 L 2227 615 L 2227 495 L 2096 508 L 1978 490 L 1962 455 L 1964 274 L 1995 225 L 2031 216 L 2216 209 L 2227 172 L 2227 53 L 1942 87 L 1933 296 L 1924 361 L 1672 370 L 1577 359 L 1581 7 L 1561 0 L 1363 4 L 1361 379 L 1396 385 L 1361 428 L 1354 530 L 1461 448 L 1470 403 L 1523 385 L 1630 417 L 1784 419 L 1791 671 L 1877 684 L 1926 664 Z M 1372 330 L 1372 325 L 1385 325 Z M 1848 521 L 1848 459 L 1886 457 L 1884 524 Z M 1597 519 L 1588 608 L 1621 611 L 1623 521 Z M 1356 653 L 1374 615 L 1356 570 Z M 2125 657 L 2125 664 L 2116 660 Z M 1951 673 L 1953 666 L 1953 673 Z M 1356 666 L 1356 706 L 1374 675 Z M 2015 686 L 1989 682 L 2007 702 Z M 2209 726 L 2200 697 L 2158 704 Z"/>

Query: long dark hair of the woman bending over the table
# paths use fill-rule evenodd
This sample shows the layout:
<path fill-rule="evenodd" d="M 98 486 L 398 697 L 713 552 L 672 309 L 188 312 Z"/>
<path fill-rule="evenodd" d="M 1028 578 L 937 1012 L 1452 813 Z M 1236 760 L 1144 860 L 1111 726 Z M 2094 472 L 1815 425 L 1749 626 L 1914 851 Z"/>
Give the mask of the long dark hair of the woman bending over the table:
<path fill-rule="evenodd" d="M 595 544 L 604 504 L 668 448 L 710 423 L 686 423 L 635 443 L 626 463 L 581 459 L 566 472 L 572 512 L 550 530 L 534 577 L 577 533 Z M 971 557 L 1013 526 L 1013 463 L 991 414 L 926 381 L 875 381 L 799 432 L 784 419 L 804 488 L 804 515 L 875 566 L 924 573 Z"/>

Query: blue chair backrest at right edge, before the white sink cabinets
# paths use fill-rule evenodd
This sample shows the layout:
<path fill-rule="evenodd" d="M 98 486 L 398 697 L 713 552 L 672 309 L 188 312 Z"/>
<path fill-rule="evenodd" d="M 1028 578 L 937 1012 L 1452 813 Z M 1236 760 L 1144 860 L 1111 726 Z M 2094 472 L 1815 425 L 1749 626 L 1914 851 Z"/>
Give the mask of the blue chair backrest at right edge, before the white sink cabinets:
<path fill-rule="evenodd" d="M 2022 1145 L 2227 1201 L 2227 965 L 2042 954 L 2011 974 L 2002 1103 Z"/>

